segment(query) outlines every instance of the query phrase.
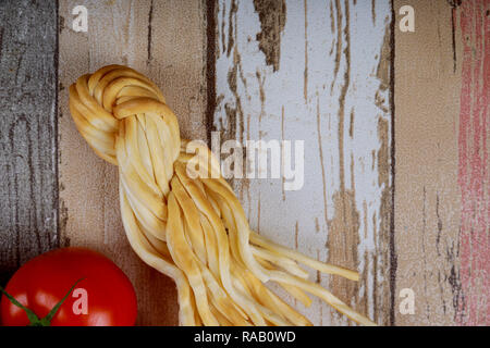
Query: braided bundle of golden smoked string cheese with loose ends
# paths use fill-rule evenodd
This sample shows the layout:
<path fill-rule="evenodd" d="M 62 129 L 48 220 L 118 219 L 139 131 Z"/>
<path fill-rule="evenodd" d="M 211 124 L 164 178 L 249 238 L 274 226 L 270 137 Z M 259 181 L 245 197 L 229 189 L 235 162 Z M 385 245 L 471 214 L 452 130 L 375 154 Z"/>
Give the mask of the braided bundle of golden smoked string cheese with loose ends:
<path fill-rule="evenodd" d="M 181 325 L 310 325 L 267 282 L 305 306 L 307 294 L 360 324 L 375 324 L 299 264 L 358 281 L 250 231 L 244 210 L 201 142 L 181 139 L 176 116 L 146 76 L 121 65 L 81 76 L 70 111 L 82 136 L 119 166 L 121 215 L 144 262 L 172 277 Z"/>

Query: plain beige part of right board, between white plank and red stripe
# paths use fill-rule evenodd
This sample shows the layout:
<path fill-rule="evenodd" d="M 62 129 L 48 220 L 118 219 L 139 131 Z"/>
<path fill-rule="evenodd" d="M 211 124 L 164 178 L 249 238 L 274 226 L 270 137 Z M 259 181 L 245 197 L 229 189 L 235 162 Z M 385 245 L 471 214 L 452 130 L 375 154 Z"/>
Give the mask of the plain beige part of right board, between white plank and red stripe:
<path fill-rule="evenodd" d="M 462 300 L 458 11 L 442 0 L 402 5 L 415 9 L 416 27 L 395 29 L 395 324 L 451 325 Z M 399 311 L 403 288 L 415 293 L 413 315 Z"/>

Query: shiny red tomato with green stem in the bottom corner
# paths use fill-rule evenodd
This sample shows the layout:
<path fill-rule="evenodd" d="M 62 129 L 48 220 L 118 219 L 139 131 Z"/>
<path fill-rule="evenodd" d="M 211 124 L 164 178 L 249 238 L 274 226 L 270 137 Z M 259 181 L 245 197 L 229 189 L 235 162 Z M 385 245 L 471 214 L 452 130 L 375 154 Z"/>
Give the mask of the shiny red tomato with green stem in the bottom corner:
<path fill-rule="evenodd" d="M 63 248 L 34 258 L 13 275 L 5 291 L 41 319 L 81 278 L 52 319 L 51 326 L 135 324 L 136 295 L 130 279 L 112 261 L 89 249 Z M 4 295 L 0 313 L 3 325 L 29 324 L 25 311 Z"/>

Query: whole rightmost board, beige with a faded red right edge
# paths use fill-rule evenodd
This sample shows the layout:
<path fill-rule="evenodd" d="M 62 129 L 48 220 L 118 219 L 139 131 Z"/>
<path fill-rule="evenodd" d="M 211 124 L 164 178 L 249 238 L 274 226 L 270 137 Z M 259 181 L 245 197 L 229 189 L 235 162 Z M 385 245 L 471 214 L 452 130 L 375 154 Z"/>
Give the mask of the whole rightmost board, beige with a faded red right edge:
<path fill-rule="evenodd" d="M 483 3 L 394 1 L 416 13 L 395 30 L 396 294 L 416 300 L 413 315 L 397 300 L 399 325 L 489 323 Z"/>

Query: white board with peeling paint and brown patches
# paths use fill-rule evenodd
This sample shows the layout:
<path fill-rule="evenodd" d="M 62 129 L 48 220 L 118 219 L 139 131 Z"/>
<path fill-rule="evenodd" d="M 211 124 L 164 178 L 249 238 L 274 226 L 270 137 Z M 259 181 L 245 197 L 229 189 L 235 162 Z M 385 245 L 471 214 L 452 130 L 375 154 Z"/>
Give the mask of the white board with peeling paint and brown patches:
<path fill-rule="evenodd" d="M 358 284 L 318 282 L 389 324 L 390 1 L 220 0 L 216 11 L 221 142 L 304 140 L 299 190 L 270 173 L 234 181 L 252 227 L 358 270 Z M 315 324 L 351 324 L 319 300 L 302 311 Z"/>

